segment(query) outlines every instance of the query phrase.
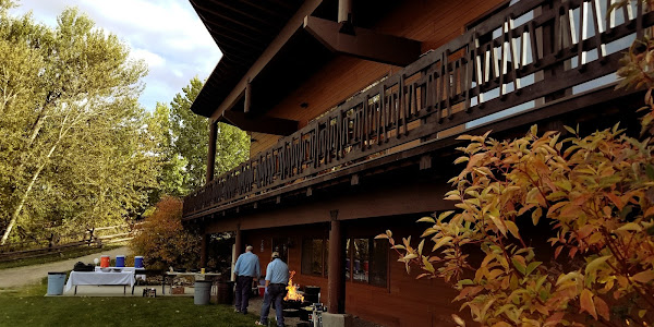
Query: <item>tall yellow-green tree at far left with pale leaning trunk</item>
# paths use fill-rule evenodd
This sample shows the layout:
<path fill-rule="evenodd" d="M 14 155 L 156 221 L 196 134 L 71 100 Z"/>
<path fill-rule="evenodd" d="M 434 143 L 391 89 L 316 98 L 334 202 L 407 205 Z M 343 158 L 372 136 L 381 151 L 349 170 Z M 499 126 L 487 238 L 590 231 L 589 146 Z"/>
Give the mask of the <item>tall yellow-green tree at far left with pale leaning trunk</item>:
<path fill-rule="evenodd" d="M 129 53 L 76 9 L 62 12 L 56 28 L 2 11 L 1 243 L 21 223 L 71 219 L 62 213 L 124 218 L 155 187 L 136 101 L 147 70 Z M 46 207 L 55 199 L 63 201 Z"/>

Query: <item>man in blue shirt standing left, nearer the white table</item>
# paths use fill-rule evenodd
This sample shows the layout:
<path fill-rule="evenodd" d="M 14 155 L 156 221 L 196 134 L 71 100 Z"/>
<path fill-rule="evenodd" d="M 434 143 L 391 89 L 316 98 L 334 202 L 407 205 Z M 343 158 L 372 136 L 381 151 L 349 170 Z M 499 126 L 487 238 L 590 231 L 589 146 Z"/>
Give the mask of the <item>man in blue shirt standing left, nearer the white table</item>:
<path fill-rule="evenodd" d="M 245 247 L 245 253 L 241 254 L 234 266 L 237 275 L 237 308 L 234 312 L 247 314 L 247 304 L 250 293 L 252 293 L 252 280 L 262 276 L 262 268 L 258 263 L 258 256 L 252 253 L 252 245 Z"/>

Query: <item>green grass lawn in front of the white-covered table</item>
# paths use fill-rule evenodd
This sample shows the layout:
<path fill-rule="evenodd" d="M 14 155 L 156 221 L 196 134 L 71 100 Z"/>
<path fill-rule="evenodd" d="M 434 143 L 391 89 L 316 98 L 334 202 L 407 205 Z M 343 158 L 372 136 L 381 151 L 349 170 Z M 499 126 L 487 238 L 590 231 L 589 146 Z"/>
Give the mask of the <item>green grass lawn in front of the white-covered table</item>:
<path fill-rule="evenodd" d="M 254 326 L 255 315 L 231 305 L 195 305 L 193 298 L 44 296 L 41 284 L 0 290 L 0 326 Z"/>

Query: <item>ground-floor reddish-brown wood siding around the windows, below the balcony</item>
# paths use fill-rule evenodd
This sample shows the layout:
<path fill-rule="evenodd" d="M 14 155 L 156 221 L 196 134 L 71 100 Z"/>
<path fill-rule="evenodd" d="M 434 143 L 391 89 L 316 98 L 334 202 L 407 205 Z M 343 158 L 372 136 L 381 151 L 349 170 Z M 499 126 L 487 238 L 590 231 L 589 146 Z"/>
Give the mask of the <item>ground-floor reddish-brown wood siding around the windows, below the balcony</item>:
<path fill-rule="evenodd" d="M 415 221 L 421 215 L 402 217 L 398 220 Z M 405 218 L 405 219 L 404 219 Z M 380 218 L 365 219 L 373 226 L 379 226 Z M 385 219 L 382 219 L 385 220 Z M 420 234 L 417 225 L 408 228 L 401 226 L 398 221 L 393 223 L 386 221 L 388 227 L 397 232 L 398 235 Z M 373 237 L 377 230 L 361 226 L 353 227 L 344 222 L 343 228 L 352 233 L 366 232 Z M 302 241 L 305 238 L 319 237 L 328 231 L 327 223 L 304 226 L 302 228 L 289 227 L 268 230 L 246 231 L 243 233 L 246 244 L 253 244 L 254 253 L 258 255 L 262 266 L 262 274 L 265 274 L 266 267 L 270 262 L 272 238 L 283 238 L 291 241 L 289 247 L 288 265 L 290 270 L 295 271 L 293 281 L 300 286 L 320 287 L 322 302 L 326 303 L 328 299 L 327 277 L 313 275 L 302 275 Z M 262 241 L 264 251 L 261 251 Z M 457 292 L 440 280 L 416 280 L 419 271 L 412 271 L 407 275 L 404 265 L 396 262 L 397 255 L 389 250 L 388 253 L 388 287 L 376 287 L 361 282 L 346 282 L 346 312 L 356 315 L 365 320 L 374 322 L 383 326 L 455 326 L 451 314 L 459 313 L 460 303 L 451 303 Z M 344 274 L 344 271 L 342 272 Z"/>

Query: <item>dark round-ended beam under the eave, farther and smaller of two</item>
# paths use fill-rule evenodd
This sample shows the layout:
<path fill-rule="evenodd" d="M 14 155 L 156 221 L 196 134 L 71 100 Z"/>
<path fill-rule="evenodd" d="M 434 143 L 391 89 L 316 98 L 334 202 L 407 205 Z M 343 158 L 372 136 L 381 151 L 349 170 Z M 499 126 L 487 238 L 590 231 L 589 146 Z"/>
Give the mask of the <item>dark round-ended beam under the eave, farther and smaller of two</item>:
<path fill-rule="evenodd" d="M 288 136 L 296 132 L 300 126 L 300 123 L 296 120 L 267 116 L 250 118 L 244 112 L 231 110 L 225 111 L 222 117 L 229 123 L 247 132 Z"/>

